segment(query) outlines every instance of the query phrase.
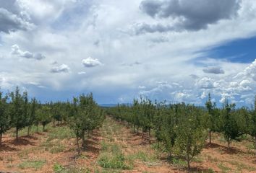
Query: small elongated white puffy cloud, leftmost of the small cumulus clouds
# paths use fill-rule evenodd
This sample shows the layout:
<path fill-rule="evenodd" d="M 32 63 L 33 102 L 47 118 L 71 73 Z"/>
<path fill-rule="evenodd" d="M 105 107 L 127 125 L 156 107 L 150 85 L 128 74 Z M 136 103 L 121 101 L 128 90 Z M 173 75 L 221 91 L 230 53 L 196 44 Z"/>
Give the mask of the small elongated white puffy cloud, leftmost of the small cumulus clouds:
<path fill-rule="evenodd" d="M 42 60 L 46 58 L 41 53 L 30 53 L 29 51 L 21 50 L 19 45 L 12 45 L 12 55 L 19 56 L 21 58 L 27 58 L 27 59 L 35 59 L 35 60 Z"/>

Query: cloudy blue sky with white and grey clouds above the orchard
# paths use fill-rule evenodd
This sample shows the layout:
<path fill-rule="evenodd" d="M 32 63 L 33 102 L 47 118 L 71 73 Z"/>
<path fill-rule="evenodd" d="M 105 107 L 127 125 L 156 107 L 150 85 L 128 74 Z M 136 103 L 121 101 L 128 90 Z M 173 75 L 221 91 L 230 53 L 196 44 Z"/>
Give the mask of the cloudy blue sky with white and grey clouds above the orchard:
<path fill-rule="evenodd" d="M 255 15 L 255 0 L 0 0 L 1 90 L 249 107 Z"/>

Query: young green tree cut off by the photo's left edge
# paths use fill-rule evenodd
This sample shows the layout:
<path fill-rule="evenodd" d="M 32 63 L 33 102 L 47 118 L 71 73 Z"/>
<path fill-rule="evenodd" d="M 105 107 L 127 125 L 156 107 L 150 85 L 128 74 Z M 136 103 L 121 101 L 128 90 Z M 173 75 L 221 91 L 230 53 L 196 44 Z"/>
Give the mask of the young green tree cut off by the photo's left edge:
<path fill-rule="evenodd" d="M 2 143 L 2 135 L 9 129 L 9 112 L 8 112 L 8 97 L 2 97 L 0 91 L 0 146 Z"/>

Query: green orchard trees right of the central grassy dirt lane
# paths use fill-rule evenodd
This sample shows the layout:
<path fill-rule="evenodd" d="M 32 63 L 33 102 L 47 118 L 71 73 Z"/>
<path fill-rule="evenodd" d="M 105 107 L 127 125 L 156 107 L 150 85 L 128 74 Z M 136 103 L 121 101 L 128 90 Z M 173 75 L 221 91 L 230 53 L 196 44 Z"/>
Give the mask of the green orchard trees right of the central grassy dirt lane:
<path fill-rule="evenodd" d="M 255 101 L 256 105 L 256 101 Z M 157 143 L 163 145 L 171 158 L 174 154 L 190 161 L 200 154 L 212 133 L 222 133 L 230 147 L 231 141 L 239 141 L 243 135 L 255 138 L 256 147 L 256 108 L 241 107 L 227 100 L 221 108 L 216 107 L 210 94 L 205 107 L 184 103 L 168 105 L 166 102 L 152 102 L 150 99 L 135 99 L 133 105 L 117 105 L 108 108 L 108 114 L 116 120 L 125 121 L 135 133 L 142 130 L 150 141 L 151 131 L 155 133 Z"/>

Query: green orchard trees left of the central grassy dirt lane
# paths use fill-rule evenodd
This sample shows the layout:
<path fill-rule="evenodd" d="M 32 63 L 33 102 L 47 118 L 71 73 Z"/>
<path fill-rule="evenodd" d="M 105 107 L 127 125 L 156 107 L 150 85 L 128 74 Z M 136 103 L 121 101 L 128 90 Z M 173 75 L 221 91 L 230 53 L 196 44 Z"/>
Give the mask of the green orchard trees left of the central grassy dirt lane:
<path fill-rule="evenodd" d="M 15 129 L 18 141 L 19 131 L 23 128 L 27 128 L 27 136 L 30 136 L 33 125 L 42 125 L 45 131 L 48 123 L 54 126 L 65 123 L 77 136 L 77 151 L 80 154 L 80 139 L 85 148 L 86 134 L 100 127 L 104 118 L 103 109 L 94 101 L 93 94 L 81 94 L 72 102 L 42 104 L 35 98 L 28 99 L 27 92 L 20 93 L 19 87 L 5 95 L 0 91 L 0 146 L 3 134 L 10 128 Z"/>

